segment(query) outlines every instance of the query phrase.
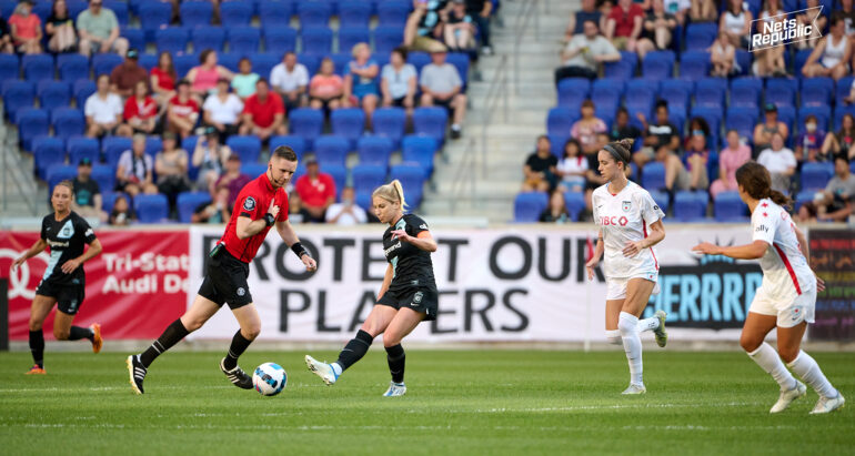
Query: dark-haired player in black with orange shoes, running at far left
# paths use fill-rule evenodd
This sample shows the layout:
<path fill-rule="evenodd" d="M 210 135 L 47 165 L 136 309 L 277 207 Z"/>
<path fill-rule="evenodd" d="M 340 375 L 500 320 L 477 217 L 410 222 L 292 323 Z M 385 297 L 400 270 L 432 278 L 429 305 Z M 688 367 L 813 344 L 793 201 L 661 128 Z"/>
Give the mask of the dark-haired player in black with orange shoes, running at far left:
<path fill-rule="evenodd" d="M 101 325 L 98 323 L 88 328 L 71 326 L 86 296 L 87 276 L 83 263 L 95 257 L 102 250 L 101 241 L 95 239 L 89 223 L 71 211 L 73 189 L 71 181 L 62 181 L 53 188 L 50 197 L 53 213 L 41 221 L 41 237 L 12 264 L 14 270 L 50 246 L 50 262 L 39 287 L 36 288 L 36 297 L 30 308 L 30 352 L 36 364 L 27 374 L 47 374 L 44 334 L 41 326 L 54 304 L 59 304 L 53 318 L 53 336 L 58 341 L 88 338 L 94 353 L 100 352 L 103 344 Z M 86 252 L 84 244 L 89 244 Z"/>

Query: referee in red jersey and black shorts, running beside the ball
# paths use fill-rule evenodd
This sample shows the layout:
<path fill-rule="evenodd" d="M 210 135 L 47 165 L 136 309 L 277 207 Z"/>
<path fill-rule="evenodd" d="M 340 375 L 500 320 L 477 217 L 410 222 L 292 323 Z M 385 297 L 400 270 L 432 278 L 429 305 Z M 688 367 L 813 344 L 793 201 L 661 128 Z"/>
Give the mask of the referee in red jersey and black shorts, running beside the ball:
<path fill-rule="evenodd" d="M 255 257 L 268 231 L 275 224 L 279 235 L 300 257 L 308 271 L 318 267 L 315 261 L 300 245 L 294 229 L 288 221 L 288 194 L 284 185 L 296 171 L 296 154 L 282 145 L 271 154 L 268 171 L 243 186 L 225 233 L 211 250 L 202 286 L 190 310 L 170 324 L 151 346 L 138 355 L 128 356 L 128 372 L 131 387 L 143 394 L 151 363 L 160 354 L 179 343 L 184 336 L 202 325 L 228 303 L 241 328 L 234 333 L 229 353 L 220 362 L 220 369 L 231 383 L 244 389 L 252 389 L 252 377 L 238 366 L 238 357 L 261 332 L 261 320 L 247 285 L 250 262 Z M 282 207 L 282 210 L 280 210 Z"/>

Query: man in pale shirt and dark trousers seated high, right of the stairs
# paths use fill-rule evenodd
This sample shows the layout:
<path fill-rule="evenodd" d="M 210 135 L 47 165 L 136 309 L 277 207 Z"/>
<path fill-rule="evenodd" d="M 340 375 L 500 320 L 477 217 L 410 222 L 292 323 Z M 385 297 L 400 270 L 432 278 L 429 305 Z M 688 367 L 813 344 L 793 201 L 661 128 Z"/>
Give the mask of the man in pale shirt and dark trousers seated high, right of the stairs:
<path fill-rule="evenodd" d="M 600 34 L 596 22 L 585 21 L 584 34 L 576 34 L 561 52 L 563 64 L 555 70 L 555 84 L 564 78 L 596 79 L 603 62 L 621 60 L 621 53 Z"/>

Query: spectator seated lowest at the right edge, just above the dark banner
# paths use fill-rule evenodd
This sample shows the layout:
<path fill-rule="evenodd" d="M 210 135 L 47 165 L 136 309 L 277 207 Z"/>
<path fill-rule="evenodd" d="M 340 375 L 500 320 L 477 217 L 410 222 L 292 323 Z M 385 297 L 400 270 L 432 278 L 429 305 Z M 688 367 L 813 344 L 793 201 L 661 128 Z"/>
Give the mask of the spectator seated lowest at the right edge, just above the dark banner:
<path fill-rule="evenodd" d="M 814 201 L 807 202 L 798 210 L 802 222 L 809 220 L 846 223 L 853 213 L 855 204 L 855 175 L 849 172 L 849 161 L 846 155 L 834 158 L 834 178 L 825 185 L 825 190 L 814 195 Z"/>

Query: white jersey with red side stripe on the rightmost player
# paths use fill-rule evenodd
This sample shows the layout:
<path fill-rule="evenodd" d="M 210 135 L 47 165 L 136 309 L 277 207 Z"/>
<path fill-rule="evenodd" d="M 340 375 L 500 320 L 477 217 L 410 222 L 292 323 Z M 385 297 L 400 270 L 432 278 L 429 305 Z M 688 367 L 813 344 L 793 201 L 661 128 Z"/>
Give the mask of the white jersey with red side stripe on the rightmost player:
<path fill-rule="evenodd" d="M 816 284 L 796 237 L 789 214 L 772 200 L 760 200 L 751 215 L 753 241 L 768 243 L 760 259 L 763 288 L 773 297 L 792 297 L 812 290 Z"/>

